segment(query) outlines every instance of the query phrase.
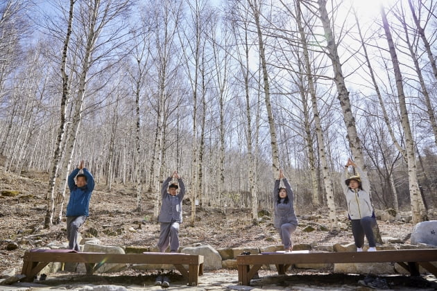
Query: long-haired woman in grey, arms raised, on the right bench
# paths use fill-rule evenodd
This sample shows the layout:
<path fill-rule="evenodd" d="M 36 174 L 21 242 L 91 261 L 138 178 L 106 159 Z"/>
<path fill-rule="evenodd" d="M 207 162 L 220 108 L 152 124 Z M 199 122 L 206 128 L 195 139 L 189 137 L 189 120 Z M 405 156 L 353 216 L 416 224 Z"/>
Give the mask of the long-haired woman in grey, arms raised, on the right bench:
<path fill-rule="evenodd" d="M 280 187 L 281 180 L 284 183 L 283 187 Z M 293 249 L 291 233 L 298 227 L 298 218 L 294 213 L 293 191 L 291 191 L 291 186 L 282 170 L 280 170 L 279 179 L 275 180 L 273 197 L 275 200 L 275 227 L 280 233 L 284 251 L 291 252 Z"/>

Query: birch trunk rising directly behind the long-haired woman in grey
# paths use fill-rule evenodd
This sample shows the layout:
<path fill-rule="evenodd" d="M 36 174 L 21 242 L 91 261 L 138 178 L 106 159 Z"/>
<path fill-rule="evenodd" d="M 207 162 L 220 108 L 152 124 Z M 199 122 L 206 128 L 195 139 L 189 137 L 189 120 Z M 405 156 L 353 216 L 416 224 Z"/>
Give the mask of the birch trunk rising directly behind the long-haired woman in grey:
<path fill-rule="evenodd" d="M 267 62 L 266 62 L 266 55 L 264 52 L 264 40 L 262 37 L 261 23 L 259 22 L 259 4 L 257 3 L 257 0 L 248 0 L 248 4 L 252 10 L 252 14 L 255 19 L 255 26 L 257 28 L 259 58 L 261 60 L 262 78 L 264 84 L 264 100 L 266 103 L 268 127 L 270 130 L 270 138 L 271 138 L 272 170 L 273 170 L 273 177 L 277 177 L 279 176 L 280 159 L 279 159 L 279 152 L 277 150 L 275 120 L 273 118 L 273 112 L 272 112 L 271 101 L 270 101 L 270 85 L 268 82 Z"/>

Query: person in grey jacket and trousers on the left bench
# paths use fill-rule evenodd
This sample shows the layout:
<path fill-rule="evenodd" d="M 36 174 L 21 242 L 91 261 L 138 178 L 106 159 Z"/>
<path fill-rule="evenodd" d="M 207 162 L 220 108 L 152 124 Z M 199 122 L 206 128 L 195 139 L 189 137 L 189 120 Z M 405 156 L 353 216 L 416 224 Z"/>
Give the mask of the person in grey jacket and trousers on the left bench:
<path fill-rule="evenodd" d="M 169 185 L 173 177 L 178 179 L 178 183 Z M 174 171 L 173 175 L 167 177 L 162 183 L 161 195 L 162 204 L 158 217 L 158 222 L 161 223 L 161 231 L 157 246 L 160 248 L 160 252 L 165 252 L 169 245 L 170 252 L 178 252 L 179 224 L 182 223 L 182 199 L 185 195 L 185 184 L 177 171 Z"/>

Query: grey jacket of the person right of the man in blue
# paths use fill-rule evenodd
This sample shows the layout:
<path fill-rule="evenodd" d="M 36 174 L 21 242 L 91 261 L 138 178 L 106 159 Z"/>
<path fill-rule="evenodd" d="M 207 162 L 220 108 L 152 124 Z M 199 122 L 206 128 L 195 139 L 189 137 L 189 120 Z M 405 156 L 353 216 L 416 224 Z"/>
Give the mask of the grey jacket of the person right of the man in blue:
<path fill-rule="evenodd" d="M 164 183 L 162 183 L 162 204 L 158 222 L 182 222 L 182 199 L 184 199 L 185 195 L 185 184 L 182 178 L 178 179 L 179 193 L 172 196 L 167 191 L 170 181 L 171 177 L 168 177 Z"/>

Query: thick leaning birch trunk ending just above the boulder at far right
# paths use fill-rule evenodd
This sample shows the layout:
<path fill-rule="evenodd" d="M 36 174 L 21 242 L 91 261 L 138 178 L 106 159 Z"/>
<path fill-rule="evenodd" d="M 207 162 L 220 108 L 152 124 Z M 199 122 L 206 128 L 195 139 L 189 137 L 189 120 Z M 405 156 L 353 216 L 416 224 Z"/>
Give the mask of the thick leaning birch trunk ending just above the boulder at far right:
<path fill-rule="evenodd" d="M 406 148 L 406 158 L 408 165 L 408 177 L 409 177 L 409 189 L 410 189 L 410 200 L 411 200 L 411 216 L 413 218 L 413 224 L 417 224 L 422 221 L 420 215 L 420 191 L 417 178 L 417 167 L 415 164 L 415 154 L 414 154 L 414 141 L 413 135 L 411 134 L 410 121 L 408 116 L 408 110 L 406 109 L 406 98 L 404 94 L 404 87 L 402 83 L 402 73 L 399 67 L 399 61 L 397 60 L 397 53 L 395 50 L 395 44 L 393 42 L 393 37 L 391 35 L 390 26 L 388 25 L 386 12 L 384 6 L 381 6 L 381 17 L 384 26 L 384 32 L 386 34 L 386 39 L 388 42 L 388 50 L 391 55 L 391 62 L 393 64 L 393 70 L 395 73 L 397 98 L 399 100 L 400 113 L 401 113 L 401 123 L 402 129 L 404 130 L 405 136 L 405 148 Z"/>

